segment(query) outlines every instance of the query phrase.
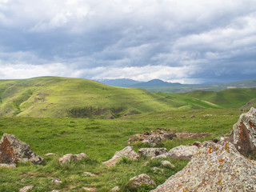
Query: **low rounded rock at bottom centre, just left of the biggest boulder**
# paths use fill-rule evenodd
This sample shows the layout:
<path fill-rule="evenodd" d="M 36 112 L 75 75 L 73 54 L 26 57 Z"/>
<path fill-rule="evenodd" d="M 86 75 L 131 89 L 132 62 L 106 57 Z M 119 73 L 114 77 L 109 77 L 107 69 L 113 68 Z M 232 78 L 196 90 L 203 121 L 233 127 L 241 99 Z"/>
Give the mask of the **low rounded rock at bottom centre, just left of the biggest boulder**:
<path fill-rule="evenodd" d="M 154 181 L 147 174 L 140 174 L 134 178 L 130 178 L 128 186 L 136 188 L 142 186 L 142 184 L 155 186 Z"/>

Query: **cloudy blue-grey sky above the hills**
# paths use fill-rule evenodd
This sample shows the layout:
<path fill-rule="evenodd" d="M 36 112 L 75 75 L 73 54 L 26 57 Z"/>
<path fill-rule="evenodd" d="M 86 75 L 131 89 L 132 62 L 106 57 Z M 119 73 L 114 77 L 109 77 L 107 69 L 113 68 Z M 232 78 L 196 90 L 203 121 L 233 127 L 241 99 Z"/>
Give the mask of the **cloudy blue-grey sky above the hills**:
<path fill-rule="evenodd" d="M 256 79 L 255 0 L 0 0 L 0 78 Z"/>

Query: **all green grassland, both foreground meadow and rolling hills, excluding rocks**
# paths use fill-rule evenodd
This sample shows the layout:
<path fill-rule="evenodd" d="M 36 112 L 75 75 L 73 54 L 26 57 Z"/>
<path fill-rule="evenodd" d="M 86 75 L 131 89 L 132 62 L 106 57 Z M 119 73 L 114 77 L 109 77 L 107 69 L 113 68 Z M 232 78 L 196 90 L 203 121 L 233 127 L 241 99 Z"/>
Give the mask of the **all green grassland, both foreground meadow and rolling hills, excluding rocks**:
<path fill-rule="evenodd" d="M 30 78 L 0 81 L 0 134 L 14 134 L 31 150 L 46 159 L 42 165 L 19 163 L 17 168 L 0 168 L 0 191 L 85 191 L 96 187 L 110 191 L 149 191 L 150 186 L 130 189 L 130 178 L 148 174 L 156 185 L 182 170 L 188 160 L 166 158 L 174 164 L 161 167 L 161 160 L 123 158 L 108 168 L 102 162 L 122 150 L 127 140 L 144 131 L 165 129 L 174 132 L 206 132 L 207 138 L 174 138 L 157 147 L 187 145 L 220 138 L 232 130 L 241 110 L 255 105 L 255 89 L 193 91 L 186 94 L 153 93 L 142 89 L 106 86 L 77 78 Z M 208 116 L 206 116 L 208 114 Z M 210 115 L 209 115 L 210 114 Z M 195 118 L 190 118 L 194 115 Z M 182 118 L 186 116 L 186 118 Z M 134 150 L 147 147 L 136 142 Z M 47 157 L 45 154 L 55 153 Z M 81 162 L 60 165 L 63 154 L 85 153 Z M 143 166 L 145 162 L 149 162 Z M 152 170 L 158 167 L 160 170 Z M 97 174 L 90 177 L 84 172 Z M 62 183 L 55 185 L 53 178 Z"/>

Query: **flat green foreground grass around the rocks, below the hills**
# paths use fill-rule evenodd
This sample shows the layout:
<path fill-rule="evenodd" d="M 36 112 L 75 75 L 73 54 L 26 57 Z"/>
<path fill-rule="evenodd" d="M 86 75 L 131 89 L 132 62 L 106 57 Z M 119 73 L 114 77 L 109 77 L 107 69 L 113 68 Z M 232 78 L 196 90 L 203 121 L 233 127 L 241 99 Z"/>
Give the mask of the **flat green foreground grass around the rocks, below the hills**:
<path fill-rule="evenodd" d="M 170 175 L 186 166 L 187 160 L 166 158 L 175 168 L 162 168 L 160 160 L 141 158 L 132 162 L 122 159 L 117 166 L 107 168 L 102 162 L 112 158 L 115 151 L 127 146 L 126 140 L 133 134 L 157 128 L 186 130 L 190 132 L 213 133 L 208 138 L 177 139 L 159 143 L 170 150 L 174 146 L 184 145 L 196 140 L 203 141 L 218 138 L 232 130 L 237 122 L 240 110 L 186 110 L 162 111 L 136 114 L 118 119 L 90 118 L 0 118 L 0 134 L 16 135 L 23 142 L 29 143 L 31 150 L 46 158 L 46 163 L 38 166 L 30 163 L 19 164 L 15 169 L 0 168 L 0 191 L 18 191 L 22 186 L 33 185 L 31 191 L 82 191 L 83 186 L 97 187 L 98 191 L 109 191 L 114 186 L 121 186 L 122 191 L 132 191 L 126 187 L 130 178 L 138 174 L 148 174 L 157 185 L 162 184 Z M 190 118 L 194 114 L 196 118 Z M 212 116 L 203 117 L 205 114 Z M 182 118 L 185 115 L 186 118 Z M 171 117 L 171 118 L 170 118 Z M 140 146 L 134 146 L 138 150 Z M 53 152 L 56 155 L 46 157 Z M 86 153 L 90 158 L 82 162 L 71 162 L 64 166 L 58 164 L 63 154 Z M 143 166 L 149 162 L 147 166 Z M 84 171 L 97 174 L 90 177 Z M 51 180 L 60 178 L 62 184 L 54 185 Z M 143 186 L 138 191 L 149 190 Z"/>

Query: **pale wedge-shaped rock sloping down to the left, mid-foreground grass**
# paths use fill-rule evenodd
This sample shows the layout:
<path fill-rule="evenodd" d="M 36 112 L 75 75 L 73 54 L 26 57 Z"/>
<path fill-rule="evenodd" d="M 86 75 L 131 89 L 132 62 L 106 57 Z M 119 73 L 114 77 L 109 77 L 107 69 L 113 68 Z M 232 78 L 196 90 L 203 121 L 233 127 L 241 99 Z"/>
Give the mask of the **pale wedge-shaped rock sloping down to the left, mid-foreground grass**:
<path fill-rule="evenodd" d="M 106 166 L 115 166 L 118 163 L 118 161 L 123 157 L 129 158 L 131 160 L 136 160 L 140 158 L 139 154 L 132 150 L 131 146 L 126 146 L 126 148 L 124 148 L 123 150 L 115 152 L 113 158 L 102 163 Z"/>

